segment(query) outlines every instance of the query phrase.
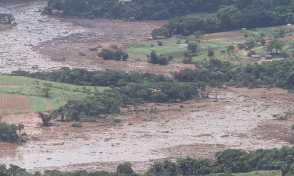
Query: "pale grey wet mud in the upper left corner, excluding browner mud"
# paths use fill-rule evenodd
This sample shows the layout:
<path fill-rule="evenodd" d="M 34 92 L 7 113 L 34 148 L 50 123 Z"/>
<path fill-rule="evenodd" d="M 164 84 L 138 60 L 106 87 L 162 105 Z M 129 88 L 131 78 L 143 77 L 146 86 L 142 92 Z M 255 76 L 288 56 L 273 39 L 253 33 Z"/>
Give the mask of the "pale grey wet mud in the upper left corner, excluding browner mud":
<path fill-rule="evenodd" d="M 12 30 L 0 31 L 0 73 L 18 69 L 37 71 L 58 68 L 60 63 L 50 61 L 48 56 L 34 51 L 32 47 L 42 41 L 85 31 L 83 27 L 41 15 L 38 11 L 45 6 L 44 0 L 25 3 L 0 1 L 0 12 L 14 14 L 18 23 Z M 63 63 L 63 66 L 71 65 L 73 63 Z"/>

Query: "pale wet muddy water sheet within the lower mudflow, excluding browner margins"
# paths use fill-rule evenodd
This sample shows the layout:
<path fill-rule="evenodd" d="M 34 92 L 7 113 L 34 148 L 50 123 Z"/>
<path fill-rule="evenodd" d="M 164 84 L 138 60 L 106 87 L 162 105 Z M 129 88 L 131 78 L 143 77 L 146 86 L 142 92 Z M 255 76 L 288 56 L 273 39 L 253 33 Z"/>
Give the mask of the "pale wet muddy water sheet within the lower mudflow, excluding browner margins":
<path fill-rule="evenodd" d="M 241 93 L 242 94 L 242 93 Z M 257 94 L 257 96 L 260 96 Z M 119 126 L 84 124 L 78 131 L 68 131 L 66 125 L 51 127 L 43 140 L 20 146 L 14 155 L 0 155 L 5 163 L 28 169 L 59 168 L 85 164 L 90 170 L 103 162 L 146 162 L 181 156 L 211 157 L 207 153 L 223 149 L 254 150 L 280 148 L 288 144 L 279 139 L 263 139 L 254 129 L 273 114 L 284 112 L 290 105 L 283 100 L 257 100 L 233 92 L 220 96 L 219 102 L 195 103 L 193 111 L 152 121 L 122 122 Z M 4 119 L 5 120 L 5 119 Z M 271 129 L 269 129 L 271 130 Z M 184 146 L 183 149 L 178 149 Z M 210 146 L 217 146 L 212 149 Z M 11 153 L 13 153 L 11 151 Z M 212 156 L 213 157 L 213 156 Z M 105 168 L 103 168 L 105 169 Z M 138 168 L 135 167 L 137 170 Z"/>

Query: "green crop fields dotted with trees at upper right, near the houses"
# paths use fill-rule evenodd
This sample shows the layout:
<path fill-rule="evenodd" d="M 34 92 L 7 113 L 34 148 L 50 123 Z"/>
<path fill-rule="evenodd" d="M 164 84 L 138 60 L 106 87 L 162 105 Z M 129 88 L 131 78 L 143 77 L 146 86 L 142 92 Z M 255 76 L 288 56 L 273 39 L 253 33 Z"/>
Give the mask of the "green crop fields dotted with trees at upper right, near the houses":
<path fill-rule="evenodd" d="M 200 14 L 193 14 L 192 16 L 200 15 Z M 207 14 L 202 14 L 207 15 Z M 249 37 L 257 36 L 260 33 L 263 33 L 264 39 L 269 39 L 271 34 L 277 30 L 277 27 L 264 27 L 264 28 L 255 28 L 249 30 L 239 30 L 236 32 L 247 34 Z M 233 54 L 228 53 L 221 53 L 221 50 L 226 50 L 228 45 L 236 46 L 239 43 L 245 43 L 247 38 L 245 37 L 231 37 L 227 39 L 201 39 L 200 40 L 200 54 L 193 57 L 193 61 L 203 61 L 209 60 L 207 56 L 207 52 L 209 49 L 213 49 L 215 51 L 214 58 L 218 58 L 223 61 L 229 61 L 232 64 L 247 64 L 247 63 L 254 63 L 249 57 L 246 56 L 245 50 L 239 50 L 234 52 Z M 147 61 L 146 55 L 149 55 L 151 51 L 156 51 L 157 54 L 166 54 L 174 56 L 174 61 L 180 63 L 182 61 L 183 53 L 186 51 L 188 44 L 185 43 L 185 39 L 178 39 L 178 38 L 170 38 L 170 39 L 162 39 L 160 40 L 163 42 L 163 46 L 158 46 L 157 40 L 151 41 L 143 41 L 143 42 L 135 42 L 128 46 L 126 49 L 127 53 L 129 54 L 129 58 L 132 60 L 141 60 Z M 177 42 L 180 43 L 177 44 Z M 154 47 L 150 45 L 153 44 Z M 293 42 L 287 41 L 286 45 L 283 48 L 283 51 L 287 53 L 291 53 L 293 49 Z M 268 51 L 266 51 L 266 46 L 260 45 L 257 42 L 257 45 L 252 49 L 255 53 L 260 55 L 268 55 Z"/>

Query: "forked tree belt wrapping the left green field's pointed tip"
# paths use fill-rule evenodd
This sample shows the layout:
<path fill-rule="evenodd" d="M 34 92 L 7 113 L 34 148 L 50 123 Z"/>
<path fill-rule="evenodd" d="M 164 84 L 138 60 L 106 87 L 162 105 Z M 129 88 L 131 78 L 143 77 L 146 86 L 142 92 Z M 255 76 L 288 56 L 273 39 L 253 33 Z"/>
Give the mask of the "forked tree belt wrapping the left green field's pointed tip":
<path fill-rule="evenodd" d="M 53 72 L 15 71 L 12 75 L 75 85 L 112 87 L 111 90 L 103 93 L 87 92 L 89 96 L 83 100 L 69 100 L 54 112 L 40 115 L 45 126 L 50 124 L 50 120 L 59 117 L 61 121 L 95 121 L 98 115 L 118 113 L 122 106 L 131 105 L 136 110 L 143 101 L 164 103 L 190 100 L 199 96 L 198 86 L 202 86 L 192 82 L 178 83 L 163 75 L 126 73 L 116 70 L 88 71 L 87 69 L 61 68 Z M 152 94 L 153 89 L 161 91 Z"/>

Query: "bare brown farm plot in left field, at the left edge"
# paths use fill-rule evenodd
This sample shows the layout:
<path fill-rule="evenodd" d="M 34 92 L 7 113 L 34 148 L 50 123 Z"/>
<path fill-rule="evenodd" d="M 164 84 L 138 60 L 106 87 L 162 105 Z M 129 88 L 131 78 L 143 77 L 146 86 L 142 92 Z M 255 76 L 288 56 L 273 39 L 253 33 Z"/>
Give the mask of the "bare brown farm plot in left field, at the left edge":
<path fill-rule="evenodd" d="M 27 111 L 30 101 L 23 95 L 0 94 L 0 109 Z"/>

